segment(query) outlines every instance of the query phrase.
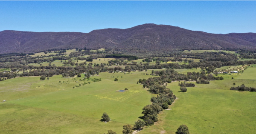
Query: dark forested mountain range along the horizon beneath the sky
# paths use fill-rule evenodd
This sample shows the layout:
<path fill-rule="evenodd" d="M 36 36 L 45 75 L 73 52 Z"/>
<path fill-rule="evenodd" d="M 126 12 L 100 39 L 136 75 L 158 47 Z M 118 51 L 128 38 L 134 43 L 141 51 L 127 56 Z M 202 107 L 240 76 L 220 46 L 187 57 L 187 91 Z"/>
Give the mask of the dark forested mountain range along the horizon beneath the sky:
<path fill-rule="evenodd" d="M 89 33 L 9 30 L 0 32 L 0 53 L 84 47 L 128 50 L 255 49 L 256 33 L 210 34 L 155 24 L 143 24 L 129 29 L 100 29 Z"/>

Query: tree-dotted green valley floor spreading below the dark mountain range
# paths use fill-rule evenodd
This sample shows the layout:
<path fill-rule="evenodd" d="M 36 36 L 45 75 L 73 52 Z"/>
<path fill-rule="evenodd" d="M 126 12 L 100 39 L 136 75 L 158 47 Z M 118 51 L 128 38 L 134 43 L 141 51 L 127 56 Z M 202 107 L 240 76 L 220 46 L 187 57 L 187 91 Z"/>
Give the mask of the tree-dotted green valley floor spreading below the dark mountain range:
<path fill-rule="evenodd" d="M 153 134 L 161 128 L 174 134 L 179 124 L 187 124 L 195 134 L 255 131 L 256 106 L 247 103 L 255 99 L 248 92 L 255 91 L 254 60 L 239 61 L 239 55 L 222 51 L 168 52 L 168 56 L 167 52 L 149 56 L 110 49 L 65 51 L 0 57 L 0 98 L 7 100 L 0 103 L 0 117 L 9 123 L 0 123 L 3 133 L 76 133 L 79 129 L 87 134 L 108 130 L 129 134 L 144 129 L 141 134 Z M 105 58 L 113 52 L 140 59 Z M 221 73 L 224 69 L 239 73 Z M 188 87 L 188 93 L 179 93 Z M 129 90 L 116 92 L 120 89 Z M 101 116 L 102 121 L 110 117 L 112 121 L 100 122 Z"/>

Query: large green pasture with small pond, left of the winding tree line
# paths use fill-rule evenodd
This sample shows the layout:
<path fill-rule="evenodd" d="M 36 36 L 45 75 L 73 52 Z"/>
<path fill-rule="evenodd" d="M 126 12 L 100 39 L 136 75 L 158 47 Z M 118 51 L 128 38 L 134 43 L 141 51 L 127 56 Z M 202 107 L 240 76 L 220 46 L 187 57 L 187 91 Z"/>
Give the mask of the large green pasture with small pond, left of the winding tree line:
<path fill-rule="evenodd" d="M 44 81 L 39 77 L 2 81 L 0 99 L 7 103 L 0 103 L 0 133 L 103 134 L 112 129 L 121 134 L 122 126 L 133 124 L 142 116 L 142 108 L 150 104 L 152 95 L 137 80 L 152 76 L 141 73 L 100 73 L 91 78 L 102 81 L 90 81 L 79 88 L 72 87 L 83 83 L 79 81 L 83 77 L 56 75 Z M 118 81 L 114 81 L 116 77 Z M 128 91 L 117 92 L 124 88 Z M 111 122 L 99 121 L 103 112 Z"/>

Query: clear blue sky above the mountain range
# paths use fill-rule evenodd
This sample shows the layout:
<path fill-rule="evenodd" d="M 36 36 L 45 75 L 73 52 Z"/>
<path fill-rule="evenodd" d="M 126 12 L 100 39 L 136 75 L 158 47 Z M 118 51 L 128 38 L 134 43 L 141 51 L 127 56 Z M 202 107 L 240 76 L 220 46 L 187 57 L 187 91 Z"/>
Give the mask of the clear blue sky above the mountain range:
<path fill-rule="evenodd" d="M 0 31 L 90 32 L 144 23 L 256 33 L 256 1 L 0 1 Z"/>

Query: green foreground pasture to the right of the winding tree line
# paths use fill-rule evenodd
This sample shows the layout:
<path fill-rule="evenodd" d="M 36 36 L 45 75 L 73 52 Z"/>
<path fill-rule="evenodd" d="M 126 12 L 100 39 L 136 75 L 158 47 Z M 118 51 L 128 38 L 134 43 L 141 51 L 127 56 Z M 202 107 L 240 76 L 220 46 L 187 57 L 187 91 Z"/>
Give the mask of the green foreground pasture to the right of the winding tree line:
<path fill-rule="evenodd" d="M 246 70 L 249 71 L 249 68 Z M 245 73 L 245 72 L 244 72 Z M 230 91 L 233 83 L 240 86 L 256 86 L 253 80 L 238 79 L 243 75 L 223 76 L 224 80 L 210 81 L 210 84 L 196 84 L 179 92 L 178 82 L 168 83 L 177 97 L 172 110 L 159 114 L 160 121 L 140 134 L 175 134 L 181 124 L 186 124 L 190 134 L 253 134 L 256 131 L 256 92 Z M 255 76 L 255 74 L 252 74 Z M 231 78 L 234 77 L 232 80 Z M 195 82 L 192 82 L 195 83 Z"/>

